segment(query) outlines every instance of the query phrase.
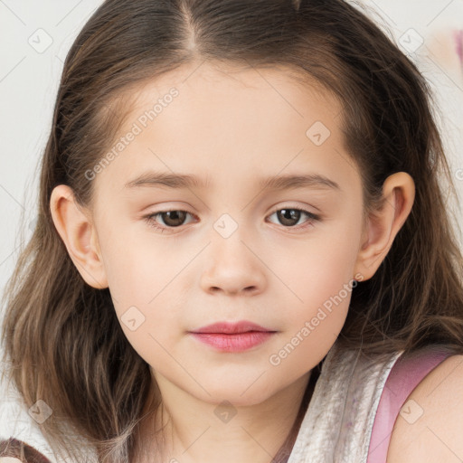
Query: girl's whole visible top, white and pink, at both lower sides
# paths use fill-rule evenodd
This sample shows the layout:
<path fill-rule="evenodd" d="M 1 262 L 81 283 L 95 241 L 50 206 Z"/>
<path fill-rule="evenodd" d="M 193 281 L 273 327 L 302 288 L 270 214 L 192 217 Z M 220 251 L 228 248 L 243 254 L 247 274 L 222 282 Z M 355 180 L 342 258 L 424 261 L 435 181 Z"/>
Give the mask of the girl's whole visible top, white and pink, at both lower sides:
<path fill-rule="evenodd" d="M 450 354 L 445 345 L 429 345 L 412 354 L 373 357 L 341 350 L 336 342 L 322 364 L 288 463 L 385 463 L 404 402 Z M 2 457 L 27 463 L 71 463 L 53 454 L 40 430 L 37 411 L 28 410 L 11 385 L 0 386 L 0 463 Z M 21 448 L 33 457 L 20 458 Z M 92 449 L 86 461 L 97 461 Z"/>

